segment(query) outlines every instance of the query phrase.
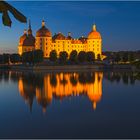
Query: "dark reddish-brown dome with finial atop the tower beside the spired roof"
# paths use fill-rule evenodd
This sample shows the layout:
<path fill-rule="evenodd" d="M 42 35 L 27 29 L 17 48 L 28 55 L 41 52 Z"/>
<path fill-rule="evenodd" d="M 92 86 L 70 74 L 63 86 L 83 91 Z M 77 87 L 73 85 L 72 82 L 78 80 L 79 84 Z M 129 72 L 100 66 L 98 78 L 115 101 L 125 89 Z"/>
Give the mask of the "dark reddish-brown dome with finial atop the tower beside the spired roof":
<path fill-rule="evenodd" d="M 51 37 L 51 32 L 45 27 L 45 21 L 42 21 L 42 27 L 36 32 L 36 37 Z"/>

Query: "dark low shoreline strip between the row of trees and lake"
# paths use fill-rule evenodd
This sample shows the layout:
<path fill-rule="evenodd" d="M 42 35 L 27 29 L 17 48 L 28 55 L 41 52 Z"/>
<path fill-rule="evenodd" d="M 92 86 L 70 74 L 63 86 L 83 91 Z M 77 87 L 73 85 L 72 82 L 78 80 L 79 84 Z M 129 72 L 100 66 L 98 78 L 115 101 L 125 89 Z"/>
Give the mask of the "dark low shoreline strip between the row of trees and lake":
<path fill-rule="evenodd" d="M 86 65 L 4 65 L 0 70 L 31 71 L 31 72 L 80 72 L 80 71 L 133 71 L 140 72 L 135 66 L 130 64 L 86 64 Z"/>

